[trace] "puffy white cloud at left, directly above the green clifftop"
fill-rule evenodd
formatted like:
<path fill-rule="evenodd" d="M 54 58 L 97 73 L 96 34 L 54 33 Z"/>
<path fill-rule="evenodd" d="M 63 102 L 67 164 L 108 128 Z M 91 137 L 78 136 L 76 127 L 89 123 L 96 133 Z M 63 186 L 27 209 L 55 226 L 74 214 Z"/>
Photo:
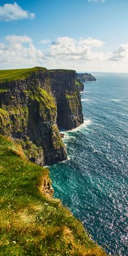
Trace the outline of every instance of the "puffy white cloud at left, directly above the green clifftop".
<path fill-rule="evenodd" d="M 18 68 L 42 65 L 42 51 L 36 49 L 28 36 L 8 35 L 5 43 L 0 43 L 0 66 Z"/>

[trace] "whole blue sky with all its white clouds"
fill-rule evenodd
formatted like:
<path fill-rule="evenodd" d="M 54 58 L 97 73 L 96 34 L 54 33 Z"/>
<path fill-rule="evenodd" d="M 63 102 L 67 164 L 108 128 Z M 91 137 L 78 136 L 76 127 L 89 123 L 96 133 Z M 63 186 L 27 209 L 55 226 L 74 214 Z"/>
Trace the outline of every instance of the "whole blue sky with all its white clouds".
<path fill-rule="evenodd" d="M 0 69 L 128 72 L 128 0 L 0 0 Z"/>

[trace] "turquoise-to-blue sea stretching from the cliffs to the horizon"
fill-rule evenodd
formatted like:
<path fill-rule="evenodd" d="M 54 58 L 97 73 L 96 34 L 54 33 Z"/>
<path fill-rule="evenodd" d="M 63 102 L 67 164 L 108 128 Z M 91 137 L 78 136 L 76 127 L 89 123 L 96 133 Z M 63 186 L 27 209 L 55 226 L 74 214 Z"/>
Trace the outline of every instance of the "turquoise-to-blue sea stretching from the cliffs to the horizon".
<path fill-rule="evenodd" d="M 50 167 L 55 190 L 99 245 L 127 252 L 128 74 L 95 74 L 81 93 L 85 123 L 65 132 L 69 160 Z"/>

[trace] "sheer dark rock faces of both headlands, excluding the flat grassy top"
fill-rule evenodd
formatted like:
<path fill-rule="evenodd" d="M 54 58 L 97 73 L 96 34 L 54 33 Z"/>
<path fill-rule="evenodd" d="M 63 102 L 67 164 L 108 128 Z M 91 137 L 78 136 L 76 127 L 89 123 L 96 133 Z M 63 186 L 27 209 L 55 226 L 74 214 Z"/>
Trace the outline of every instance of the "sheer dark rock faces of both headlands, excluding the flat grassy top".
<path fill-rule="evenodd" d="M 75 72 L 40 68 L 27 79 L 0 83 L 0 134 L 22 144 L 33 162 L 67 159 L 57 124 L 72 129 L 82 123 L 74 76 Z"/>

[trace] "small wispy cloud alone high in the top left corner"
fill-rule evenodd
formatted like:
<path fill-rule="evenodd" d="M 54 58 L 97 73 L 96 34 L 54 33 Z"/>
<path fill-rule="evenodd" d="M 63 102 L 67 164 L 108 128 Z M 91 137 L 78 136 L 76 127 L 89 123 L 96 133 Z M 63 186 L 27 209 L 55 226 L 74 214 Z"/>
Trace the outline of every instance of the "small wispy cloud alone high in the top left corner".
<path fill-rule="evenodd" d="M 16 2 L 0 6 L 0 21 L 17 21 L 35 18 L 35 14 L 23 10 Z"/>

